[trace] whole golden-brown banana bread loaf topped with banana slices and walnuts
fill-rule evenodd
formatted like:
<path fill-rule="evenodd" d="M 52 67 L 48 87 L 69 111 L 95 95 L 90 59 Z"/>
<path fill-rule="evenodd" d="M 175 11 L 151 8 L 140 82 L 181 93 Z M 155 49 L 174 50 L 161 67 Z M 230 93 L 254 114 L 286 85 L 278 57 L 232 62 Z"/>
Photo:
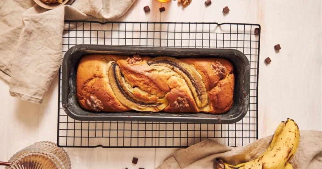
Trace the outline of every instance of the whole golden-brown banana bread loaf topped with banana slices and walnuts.
<path fill-rule="evenodd" d="M 219 114 L 232 107 L 232 64 L 220 58 L 92 54 L 76 75 L 77 98 L 92 111 Z"/>

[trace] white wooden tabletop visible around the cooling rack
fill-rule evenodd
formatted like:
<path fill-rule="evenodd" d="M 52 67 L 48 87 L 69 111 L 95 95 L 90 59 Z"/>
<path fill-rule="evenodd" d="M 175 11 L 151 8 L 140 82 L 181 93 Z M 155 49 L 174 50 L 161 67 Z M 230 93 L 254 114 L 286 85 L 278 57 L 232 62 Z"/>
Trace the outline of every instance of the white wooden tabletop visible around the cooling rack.
<path fill-rule="evenodd" d="M 151 12 L 145 14 L 143 7 Z M 166 11 L 160 13 L 158 8 Z M 222 8 L 228 6 L 229 14 Z M 317 0 L 194 0 L 182 9 L 176 1 L 161 5 L 137 0 L 115 21 L 232 22 L 261 25 L 258 92 L 259 138 L 273 134 L 280 121 L 293 118 L 301 130 L 321 130 L 321 1 Z M 276 53 L 274 45 L 281 45 Z M 269 65 L 264 59 L 270 57 Z M 38 141 L 57 139 L 58 76 L 43 104 L 9 96 L 9 84 L 0 80 L 0 161 Z M 73 168 L 152 169 L 177 148 L 66 148 Z M 139 163 L 131 164 L 132 157 Z M 1 168 L 1 167 L 0 167 Z"/>

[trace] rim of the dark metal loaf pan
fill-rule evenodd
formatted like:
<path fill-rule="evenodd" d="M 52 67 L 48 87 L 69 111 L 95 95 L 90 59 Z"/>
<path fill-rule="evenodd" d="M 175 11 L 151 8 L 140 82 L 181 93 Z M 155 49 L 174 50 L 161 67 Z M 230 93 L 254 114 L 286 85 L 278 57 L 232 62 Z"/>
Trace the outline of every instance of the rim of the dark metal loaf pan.
<path fill-rule="evenodd" d="M 70 59 L 74 57 L 76 52 L 94 52 L 99 53 L 97 51 L 136 51 L 132 52 L 131 54 L 142 54 L 142 53 L 150 53 L 149 51 L 154 51 L 157 53 L 158 51 L 162 51 L 162 54 L 166 54 L 168 52 L 178 52 L 178 53 L 209 53 L 209 52 L 218 52 L 218 53 L 226 53 L 226 54 L 233 54 L 239 57 L 239 59 L 244 63 L 245 72 L 243 74 L 243 93 L 245 95 L 244 101 L 245 104 L 241 108 L 241 112 L 233 117 L 233 118 L 222 118 L 223 114 L 207 114 L 213 117 L 185 117 L 185 114 L 189 115 L 197 115 L 197 114 L 204 114 L 204 113 L 185 113 L 185 114 L 173 114 L 173 113 L 164 113 L 164 114 L 171 114 L 171 116 L 163 117 L 163 116 L 150 116 L 148 112 L 138 112 L 137 114 L 145 114 L 141 116 L 135 115 L 124 115 L 124 116 L 113 116 L 113 112 L 109 113 L 102 113 L 103 115 L 80 115 L 74 112 L 73 108 L 71 108 L 72 103 L 70 103 L 70 99 L 68 95 L 70 94 L 70 86 L 69 86 L 69 63 Z M 148 52 L 146 52 L 148 51 Z M 200 52 L 201 51 L 201 52 Z M 92 54 L 94 54 L 92 53 Z M 91 53 L 88 53 L 91 54 Z M 86 55 L 86 54 L 84 54 Z M 200 55 L 200 54 L 196 54 Z M 66 112 L 68 116 L 76 120 L 90 120 L 90 121 L 157 121 L 157 122 L 188 122 L 188 123 L 215 123 L 215 124 L 231 124 L 240 121 L 248 111 L 249 106 L 249 95 L 250 95 L 250 65 L 247 57 L 241 52 L 236 49 L 205 49 L 205 48 L 163 48 L 163 47 L 136 47 L 136 46 L 113 46 L 113 45 L 86 45 L 80 44 L 71 47 L 66 53 L 62 61 L 62 108 Z M 79 106 L 78 102 L 76 103 Z M 84 110 L 84 109 L 83 109 Z M 90 111 L 84 110 L 85 112 L 90 113 Z M 128 112 L 124 112 L 128 113 Z M 156 114 L 156 113 L 152 113 Z M 225 113 L 224 113 L 225 114 Z M 148 116 L 147 116 L 148 115 Z M 182 116 L 182 117 L 180 117 Z"/>

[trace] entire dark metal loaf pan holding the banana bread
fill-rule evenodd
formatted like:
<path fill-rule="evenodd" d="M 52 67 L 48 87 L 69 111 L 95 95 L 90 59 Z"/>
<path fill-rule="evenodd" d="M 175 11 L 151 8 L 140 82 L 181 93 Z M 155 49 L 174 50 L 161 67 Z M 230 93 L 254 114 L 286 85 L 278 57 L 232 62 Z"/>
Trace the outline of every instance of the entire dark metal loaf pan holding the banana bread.
<path fill-rule="evenodd" d="M 166 113 L 166 112 L 93 112 L 81 108 L 76 98 L 76 71 L 81 58 L 88 54 L 118 54 L 141 56 L 218 57 L 234 66 L 235 89 L 232 108 L 224 114 Z M 159 48 L 106 45 L 76 45 L 62 61 L 62 106 L 76 120 L 93 121 L 162 121 L 229 124 L 241 120 L 247 113 L 250 93 L 250 65 L 246 56 L 234 49 Z"/>

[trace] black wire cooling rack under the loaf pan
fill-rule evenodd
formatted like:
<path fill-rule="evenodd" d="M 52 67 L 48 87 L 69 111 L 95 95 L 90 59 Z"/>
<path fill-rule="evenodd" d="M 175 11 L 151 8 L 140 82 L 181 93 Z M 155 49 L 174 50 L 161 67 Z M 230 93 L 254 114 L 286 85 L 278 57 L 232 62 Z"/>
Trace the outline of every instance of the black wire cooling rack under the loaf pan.
<path fill-rule="evenodd" d="M 229 146 L 258 139 L 260 25 L 245 23 L 66 21 L 62 54 L 76 44 L 232 48 L 251 65 L 250 106 L 235 124 L 78 121 L 62 109 L 59 70 L 57 144 L 60 147 L 187 147 L 207 138 Z M 255 33 L 256 31 L 259 33 Z"/>

